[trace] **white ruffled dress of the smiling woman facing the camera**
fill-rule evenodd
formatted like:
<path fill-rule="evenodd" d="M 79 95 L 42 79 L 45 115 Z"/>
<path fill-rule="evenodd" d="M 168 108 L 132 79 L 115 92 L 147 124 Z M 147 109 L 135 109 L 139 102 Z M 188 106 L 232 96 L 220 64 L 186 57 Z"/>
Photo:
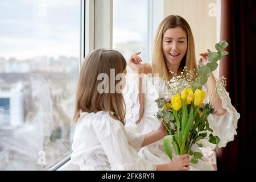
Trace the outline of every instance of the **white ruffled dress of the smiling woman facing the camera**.
<path fill-rule="evenodd" d="M 155 117 L 158 106 L 155 100 L 163 96 L 167 87 L 165 82 L 159 77 L 143 78 L 144 90 L 144 114 L 141 122 L 136 125 L 135 121 L 139 118 L 139 100 L 138 100 L 138 86 L 132 74 L 127 74 L 127 85 L 124 92 L 126 103 L 126 127 L 127 130 L 132 130 L 135 134 L 146 134 L 156 130 L 159 125 L 158 119 Z M 206 90 L 207 88 L 204 88 Z M 237 121 L 240 114 L 232 106 L 229 93 L 226 90 L 218 90 L 218 94 L 222 100 L 222 107 L 226 109 L 226 113 L 221 116 L 209 115 L 208 121 L 210 128 L 213 129 L 213 135 L 217 135 L 221 141 L 218 147 L 225 147 L 226 143 L 234 139 L 237 134 Z M 205 101 L 208 102 L 209 98 L 206 97 Z M 199 163 L 190 165 L 191 170 L 214 170 L 212 164 L 216 164 L 216 152 L 214 151 L 215 144 L 209 143 L 207 140 L 201 140 L 202 148 L 196 144 L 192 146 L 193 151 L 203 152 L 204 160 L 199 160 Z M 172 150 L 174 151 L 174 150 Z M 170 162 L 163 149 L 163 141 L 159 140 L 149 146 L 143 147 L 139 151 L 139 155 L 154 164 L 163 164 Z"/>

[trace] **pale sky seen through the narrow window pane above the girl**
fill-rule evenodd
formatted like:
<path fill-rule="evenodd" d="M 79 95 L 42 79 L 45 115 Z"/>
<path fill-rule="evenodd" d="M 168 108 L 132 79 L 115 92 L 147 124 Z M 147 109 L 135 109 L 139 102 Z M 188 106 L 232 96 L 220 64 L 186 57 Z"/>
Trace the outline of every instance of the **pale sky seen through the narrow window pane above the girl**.
<path fill-rule="evenodd" d="M 144 40 L 148 30 L 148 0 L 114 0 L 113 4 L 113 44 Z"/>

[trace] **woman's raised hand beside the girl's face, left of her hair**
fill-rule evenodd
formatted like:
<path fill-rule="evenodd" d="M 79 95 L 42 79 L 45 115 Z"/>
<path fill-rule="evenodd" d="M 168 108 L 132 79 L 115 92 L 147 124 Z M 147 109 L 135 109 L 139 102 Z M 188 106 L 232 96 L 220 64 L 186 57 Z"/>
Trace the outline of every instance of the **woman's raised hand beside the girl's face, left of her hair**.
<path fill-rule="evenodd" d="M 140 54 L 141 52 L 135 52 L 133 55 L 131 55 L 130 59 L 127 61 L 127 64 L 129 65 L 129 67 L 131 69 L 133 69 L 133 71 L 135 73 L 143 73 L 144 70 L 143 70 L 143 64 L 141 64 L 141 57 L 139 57 L 138 55 Z"/>

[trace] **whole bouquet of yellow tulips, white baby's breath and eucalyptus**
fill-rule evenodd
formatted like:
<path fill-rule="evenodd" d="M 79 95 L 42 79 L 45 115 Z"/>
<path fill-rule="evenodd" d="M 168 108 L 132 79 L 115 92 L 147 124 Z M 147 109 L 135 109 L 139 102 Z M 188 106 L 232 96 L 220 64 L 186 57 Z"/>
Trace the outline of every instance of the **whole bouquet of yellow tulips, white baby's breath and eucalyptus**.
<path fill-rule="evenodd" d="M 170 93 L 156 100 L 159 108 L 156 117 L 162 119 L 168 132 L 163 139 L 163 146 L 170 159 L 172 159 L 171 146 L 174 146 L 176 155 L 189 154 L 192 156 L 191 162 L 197 163 L 203 154 L 193 152 L 192 144 L 203 147 L 197 142 L 207 137 L 208 132 L 210 132 L 208 135 L 210 143 L 218 145 L 220 142 L 220 138 L 213 136 L 213 130 L 209 127 L 207 118 L 209 114 L 214 113 L 214 109 L 210 103 L 203 103 L 206 93 L 201 88 L 206 84 L 210 72 L 217 68 L 216 62 L 228 54 L 222 50 L 227 46 L 228 43 L 225 41 L 217 43 L 215 47 L 218 52 L 208 50 L 210 63 L 207 65 L 199 63 L 199 76 L 191 77 L 187 74 L 186 76 L 191 78 L 184 79 L 183 76 L 178 79 L 173 78 L 170 82 L 175 84 L 170 86 Z"/>

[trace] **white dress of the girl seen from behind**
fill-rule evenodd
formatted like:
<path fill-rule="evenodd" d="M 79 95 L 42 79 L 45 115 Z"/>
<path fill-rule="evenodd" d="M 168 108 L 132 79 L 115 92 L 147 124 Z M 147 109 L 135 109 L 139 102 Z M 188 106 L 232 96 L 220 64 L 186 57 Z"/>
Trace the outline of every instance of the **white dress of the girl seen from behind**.
<path fill-rule="evenodd" d="M 109 113 L 80 113 L 71 162 L 81 170 L 155 170 L 138 155 L 145 135 L 134 135 Z"/>

